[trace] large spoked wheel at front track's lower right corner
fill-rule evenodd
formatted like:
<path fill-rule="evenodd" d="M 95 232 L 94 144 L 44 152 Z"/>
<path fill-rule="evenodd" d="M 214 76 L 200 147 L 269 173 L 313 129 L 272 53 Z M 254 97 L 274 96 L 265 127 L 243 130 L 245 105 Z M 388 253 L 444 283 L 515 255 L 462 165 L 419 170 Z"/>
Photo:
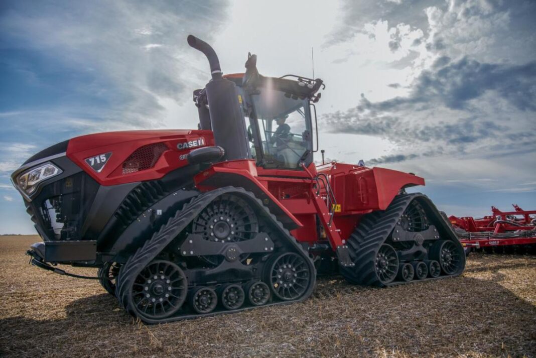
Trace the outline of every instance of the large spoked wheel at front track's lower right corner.
<path fill-rule="evenodd" d="M 275 257 L 268 267 L 272 292 L 283 301 L 299 299 L 309 287 L 312 273 L 303 257 L 294 252 Z"/>

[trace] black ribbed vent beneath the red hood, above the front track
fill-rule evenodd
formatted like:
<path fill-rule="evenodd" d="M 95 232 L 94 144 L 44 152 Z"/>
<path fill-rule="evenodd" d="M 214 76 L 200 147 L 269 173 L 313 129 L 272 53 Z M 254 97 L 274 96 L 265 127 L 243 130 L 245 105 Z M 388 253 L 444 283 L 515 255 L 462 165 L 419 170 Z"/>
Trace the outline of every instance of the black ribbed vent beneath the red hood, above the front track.
<path fill-rule="evenodd" d="M 166 185 L 159 180 L 143 182 L 133 189 L 117 209 L 115 217 L 123 225 L 129 225 L 148 207 L 168 194 Z"/>

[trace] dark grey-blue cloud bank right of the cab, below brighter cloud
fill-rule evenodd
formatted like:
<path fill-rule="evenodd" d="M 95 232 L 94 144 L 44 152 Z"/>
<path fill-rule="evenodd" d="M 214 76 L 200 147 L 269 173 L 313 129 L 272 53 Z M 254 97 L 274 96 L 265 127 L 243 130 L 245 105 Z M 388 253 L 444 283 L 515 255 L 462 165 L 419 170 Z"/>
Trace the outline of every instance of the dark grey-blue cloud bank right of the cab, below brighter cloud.
<path fill-rule="evenodd" d="M 398 145 L 398 153 L 367 161 L 370 165 L 442 154 L 489 156 L 536 150 L 535 103 L 536 63 L 491 65 L 463 58 L 421 73 L 406 97 L 371 102 L 362 95 L 358 106 L 326 114 L 321 122 L 332 132 Z"/>

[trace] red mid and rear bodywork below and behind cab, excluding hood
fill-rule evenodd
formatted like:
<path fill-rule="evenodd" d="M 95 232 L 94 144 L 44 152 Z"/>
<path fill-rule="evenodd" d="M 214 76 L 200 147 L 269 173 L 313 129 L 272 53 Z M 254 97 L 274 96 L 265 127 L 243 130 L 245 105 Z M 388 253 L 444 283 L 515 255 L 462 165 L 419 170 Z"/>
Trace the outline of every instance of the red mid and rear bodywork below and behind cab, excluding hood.
<path fill-rule="evenodd" d="M 330 211 L 325 204 L 326 188 L 322 187 L 318 195 L 313 188 L 313 177 L 318 173 L 327 175 L 341 205 L 331 223 L 327 220 Z M 332 247 L 344 244 L 363 214 L 385 210 L 402 188 L 425 184 L 421 177 L 384 168 L 330 163 L 318 168 L 311 164 L 307 170 L 264 169 L 256 167 L 254 160 L 217 163 L 194 180 L 202 191 L 239 185 L 258 197 L 264 194 L 265 204 L 274 214 L 284 213 L 299 226 L 292 230 L 298 241 L 312 244 L 325 234 Z M 317 217 L 323 226 L 321 237 Z"/>

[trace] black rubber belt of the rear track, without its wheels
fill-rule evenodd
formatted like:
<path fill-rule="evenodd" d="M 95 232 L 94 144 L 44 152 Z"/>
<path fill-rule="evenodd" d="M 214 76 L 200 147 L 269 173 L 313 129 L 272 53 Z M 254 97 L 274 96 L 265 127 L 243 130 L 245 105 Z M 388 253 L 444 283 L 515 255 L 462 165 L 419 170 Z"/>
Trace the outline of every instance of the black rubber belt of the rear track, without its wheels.
<path fill-rule="evenodd" d="M 340 266 L 340 272 L 348 282 L 362 286 L 385 287 L 455 277 L 463 272 L 463 270 L 460 270 L 459 273 L 453 275 L 442 275 L 437 278 L 413 280 L 410 282 L 395 281 L 391 282 L 390 284 L 383 284 L 379 281 L 374 267 L 376 253 L 381 245 L 385 242 L 386 238 L 388 238 L 389 234 L 391 234 L 394 226 L 398 222 L 398 219 L 404 213 L 404 210 L 406 210 L 406 207 L 411 203 L 412 200 L 416 198 L 422 198 L 423 202 L 426 202 L 422 204 L 428 205 L 432 211 L 437 213 L 437 219 L 440 220 L 439 222 L 442 224 L 443 228 L 451 234 L 450 237 L 445 237 L 445 239 L 455 241 L 459 244 L 456 234 L 452 231 L 450 226 L 446 226 L 446 223 L 443 222 L 444 219 L 437 211 L 437 208 L 425 195 L 422 195 L 421 193 L 398 195 L 393 199 L 385 211 L 376 211 L 364 215 L 359 223 L 358 228 L 348 238 L 347 245 L 350 252 L 350 257 L 355 263 L 355 266 Z"/>

